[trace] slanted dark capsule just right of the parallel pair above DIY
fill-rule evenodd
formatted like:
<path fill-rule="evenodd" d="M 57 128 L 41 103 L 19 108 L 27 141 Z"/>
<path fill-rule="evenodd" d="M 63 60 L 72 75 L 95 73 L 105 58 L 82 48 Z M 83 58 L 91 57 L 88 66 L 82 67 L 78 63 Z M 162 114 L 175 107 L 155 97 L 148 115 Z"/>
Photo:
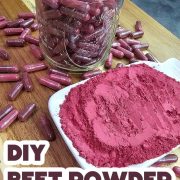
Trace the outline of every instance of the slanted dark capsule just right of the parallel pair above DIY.
<path fill-rule="evenodd" d="M 18 118 L 20 121 L 24 122 L 28 120 L 28 118 L 30 118 L 30 116 L 32 116 L 32 114 L 35 111 L 36 111 L 36 104 L 30 103 L 19 112 Z"/>

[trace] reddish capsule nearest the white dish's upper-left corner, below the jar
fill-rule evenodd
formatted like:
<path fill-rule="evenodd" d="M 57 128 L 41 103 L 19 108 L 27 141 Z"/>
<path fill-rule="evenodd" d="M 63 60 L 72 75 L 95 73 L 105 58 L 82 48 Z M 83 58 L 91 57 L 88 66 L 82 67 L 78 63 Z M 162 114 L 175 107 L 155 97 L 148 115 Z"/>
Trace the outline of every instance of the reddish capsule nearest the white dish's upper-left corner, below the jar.
<path fill-rule="evenodd" d="M 58 90 L 62 89 L 61 84 L 59 84 L 58 82 L 53 81 L 47 77 L 41 77 L 38 80 L 41 85 L 46 86 L 54 91 L 58 91 Z"/>

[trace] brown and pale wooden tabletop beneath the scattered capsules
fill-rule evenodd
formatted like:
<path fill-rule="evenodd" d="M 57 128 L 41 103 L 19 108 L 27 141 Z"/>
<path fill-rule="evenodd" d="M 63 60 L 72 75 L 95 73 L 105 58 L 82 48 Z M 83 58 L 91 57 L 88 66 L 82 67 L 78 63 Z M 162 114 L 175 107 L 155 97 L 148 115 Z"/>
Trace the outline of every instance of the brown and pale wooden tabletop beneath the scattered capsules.
<path fill-rule="evenodd" d="M 14 19 L 18 12 L 28 11 L 28 8 L 20 0 L 1 0 L 0 1 L 0 15 L 5 15 L 10 19 Z M 163 62 L 168 58 L 175 57 L 180 59 L 180 41 L 177 37 L 171 34 L 167 29 L 161 26 L 158 22 L 148 16 L 144 11 L 127 0 L 124 4 L 120 22 L 129 29 L 133 29 L 135 21 L 139 19 L 143 22 L 145 30 L 144 42 L 150 43 L 151 51 L 159 61 Z M 6 38 L 3 32 L 0 31 L 0 47 L 4 46 Z M 23 66 L 28 63 L 35 63 L 37 60 L 29 53 L 29 47 L 24 48 L 8 48 L 11 54 L 9 62 L 0 61 L 0 65 L 17 64 Z M 116 63 L 116 61 L 114 61 Z M 115 64 L 114 64 L 115 65 Z M 48 98 L 54 93 L 53 91 L 40 86 L 37 82 L 37 77 L 45 75 L 46 72 L 38 72 L 31 74 L 34 84 L 34 91 L 32 93 L 23 92 L 12 104 L 17 108 L 23 108 L 27 103 L 34 102 L 38 104 L 38 112 L 27 122 L 16 122 L 10 126 L 4 133 L 0 133 L 0 140 L 41 140 L 42 133 L 38 128 L 39 117 L 41 112 L 48 114 Z M 79 77 L 73 76 L 74 82 L 79 81 Z M 7 101 L 7 91 L 12 84 L 0 84 L 0 108 L 9 104 Z M 54 127 L 55 128 L 55 127 Z M 46 155 L 45 167 L 70 167 L 78 166 L 61 136 L 59 136 L 56 128 L 57 140 L 51 143 L 50 149 Z M 2 142 L 0 143 L 2 144 Z M 0 144 L 0 145 L 1 145 Z M 1 145 L 2 147 L 2 145 Z M 2 148 L 0 148 L 2 153 Z M 180 151 L 180 150 L 179 150 Z M 178 153 L 178 152 L 176 152 Z M 179 152 L 180 156 L 180 152 Z M 180 165 L 180 162 L 178 163 Z M 2 165 L 2 164 L 1 164 Z M 0 166 L 1 166 L 0 165 Z"/>

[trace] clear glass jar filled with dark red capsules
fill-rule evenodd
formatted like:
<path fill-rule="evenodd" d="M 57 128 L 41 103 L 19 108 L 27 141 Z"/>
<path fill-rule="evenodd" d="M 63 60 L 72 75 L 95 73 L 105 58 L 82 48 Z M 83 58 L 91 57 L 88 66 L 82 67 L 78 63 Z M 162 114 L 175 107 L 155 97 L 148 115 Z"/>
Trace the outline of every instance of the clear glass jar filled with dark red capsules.
<path fill-rule="evenodd" d="M 50 64 L 88 71 L 108 57 L 123 0 L 36 0 L 40 47 Z"/>

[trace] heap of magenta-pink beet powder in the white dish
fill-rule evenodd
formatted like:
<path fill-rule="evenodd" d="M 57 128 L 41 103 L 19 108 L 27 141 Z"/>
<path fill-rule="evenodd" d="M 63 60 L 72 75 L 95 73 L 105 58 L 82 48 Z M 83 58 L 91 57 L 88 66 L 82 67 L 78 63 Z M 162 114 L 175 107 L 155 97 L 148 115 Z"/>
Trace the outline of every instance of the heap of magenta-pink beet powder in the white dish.
<path fill-rule="evenodd" d="M 142 163 L 180 144 L 180 83 L 147 65 L 111 70 L 73 88 L 60 117 L 87 162 Z"/>

